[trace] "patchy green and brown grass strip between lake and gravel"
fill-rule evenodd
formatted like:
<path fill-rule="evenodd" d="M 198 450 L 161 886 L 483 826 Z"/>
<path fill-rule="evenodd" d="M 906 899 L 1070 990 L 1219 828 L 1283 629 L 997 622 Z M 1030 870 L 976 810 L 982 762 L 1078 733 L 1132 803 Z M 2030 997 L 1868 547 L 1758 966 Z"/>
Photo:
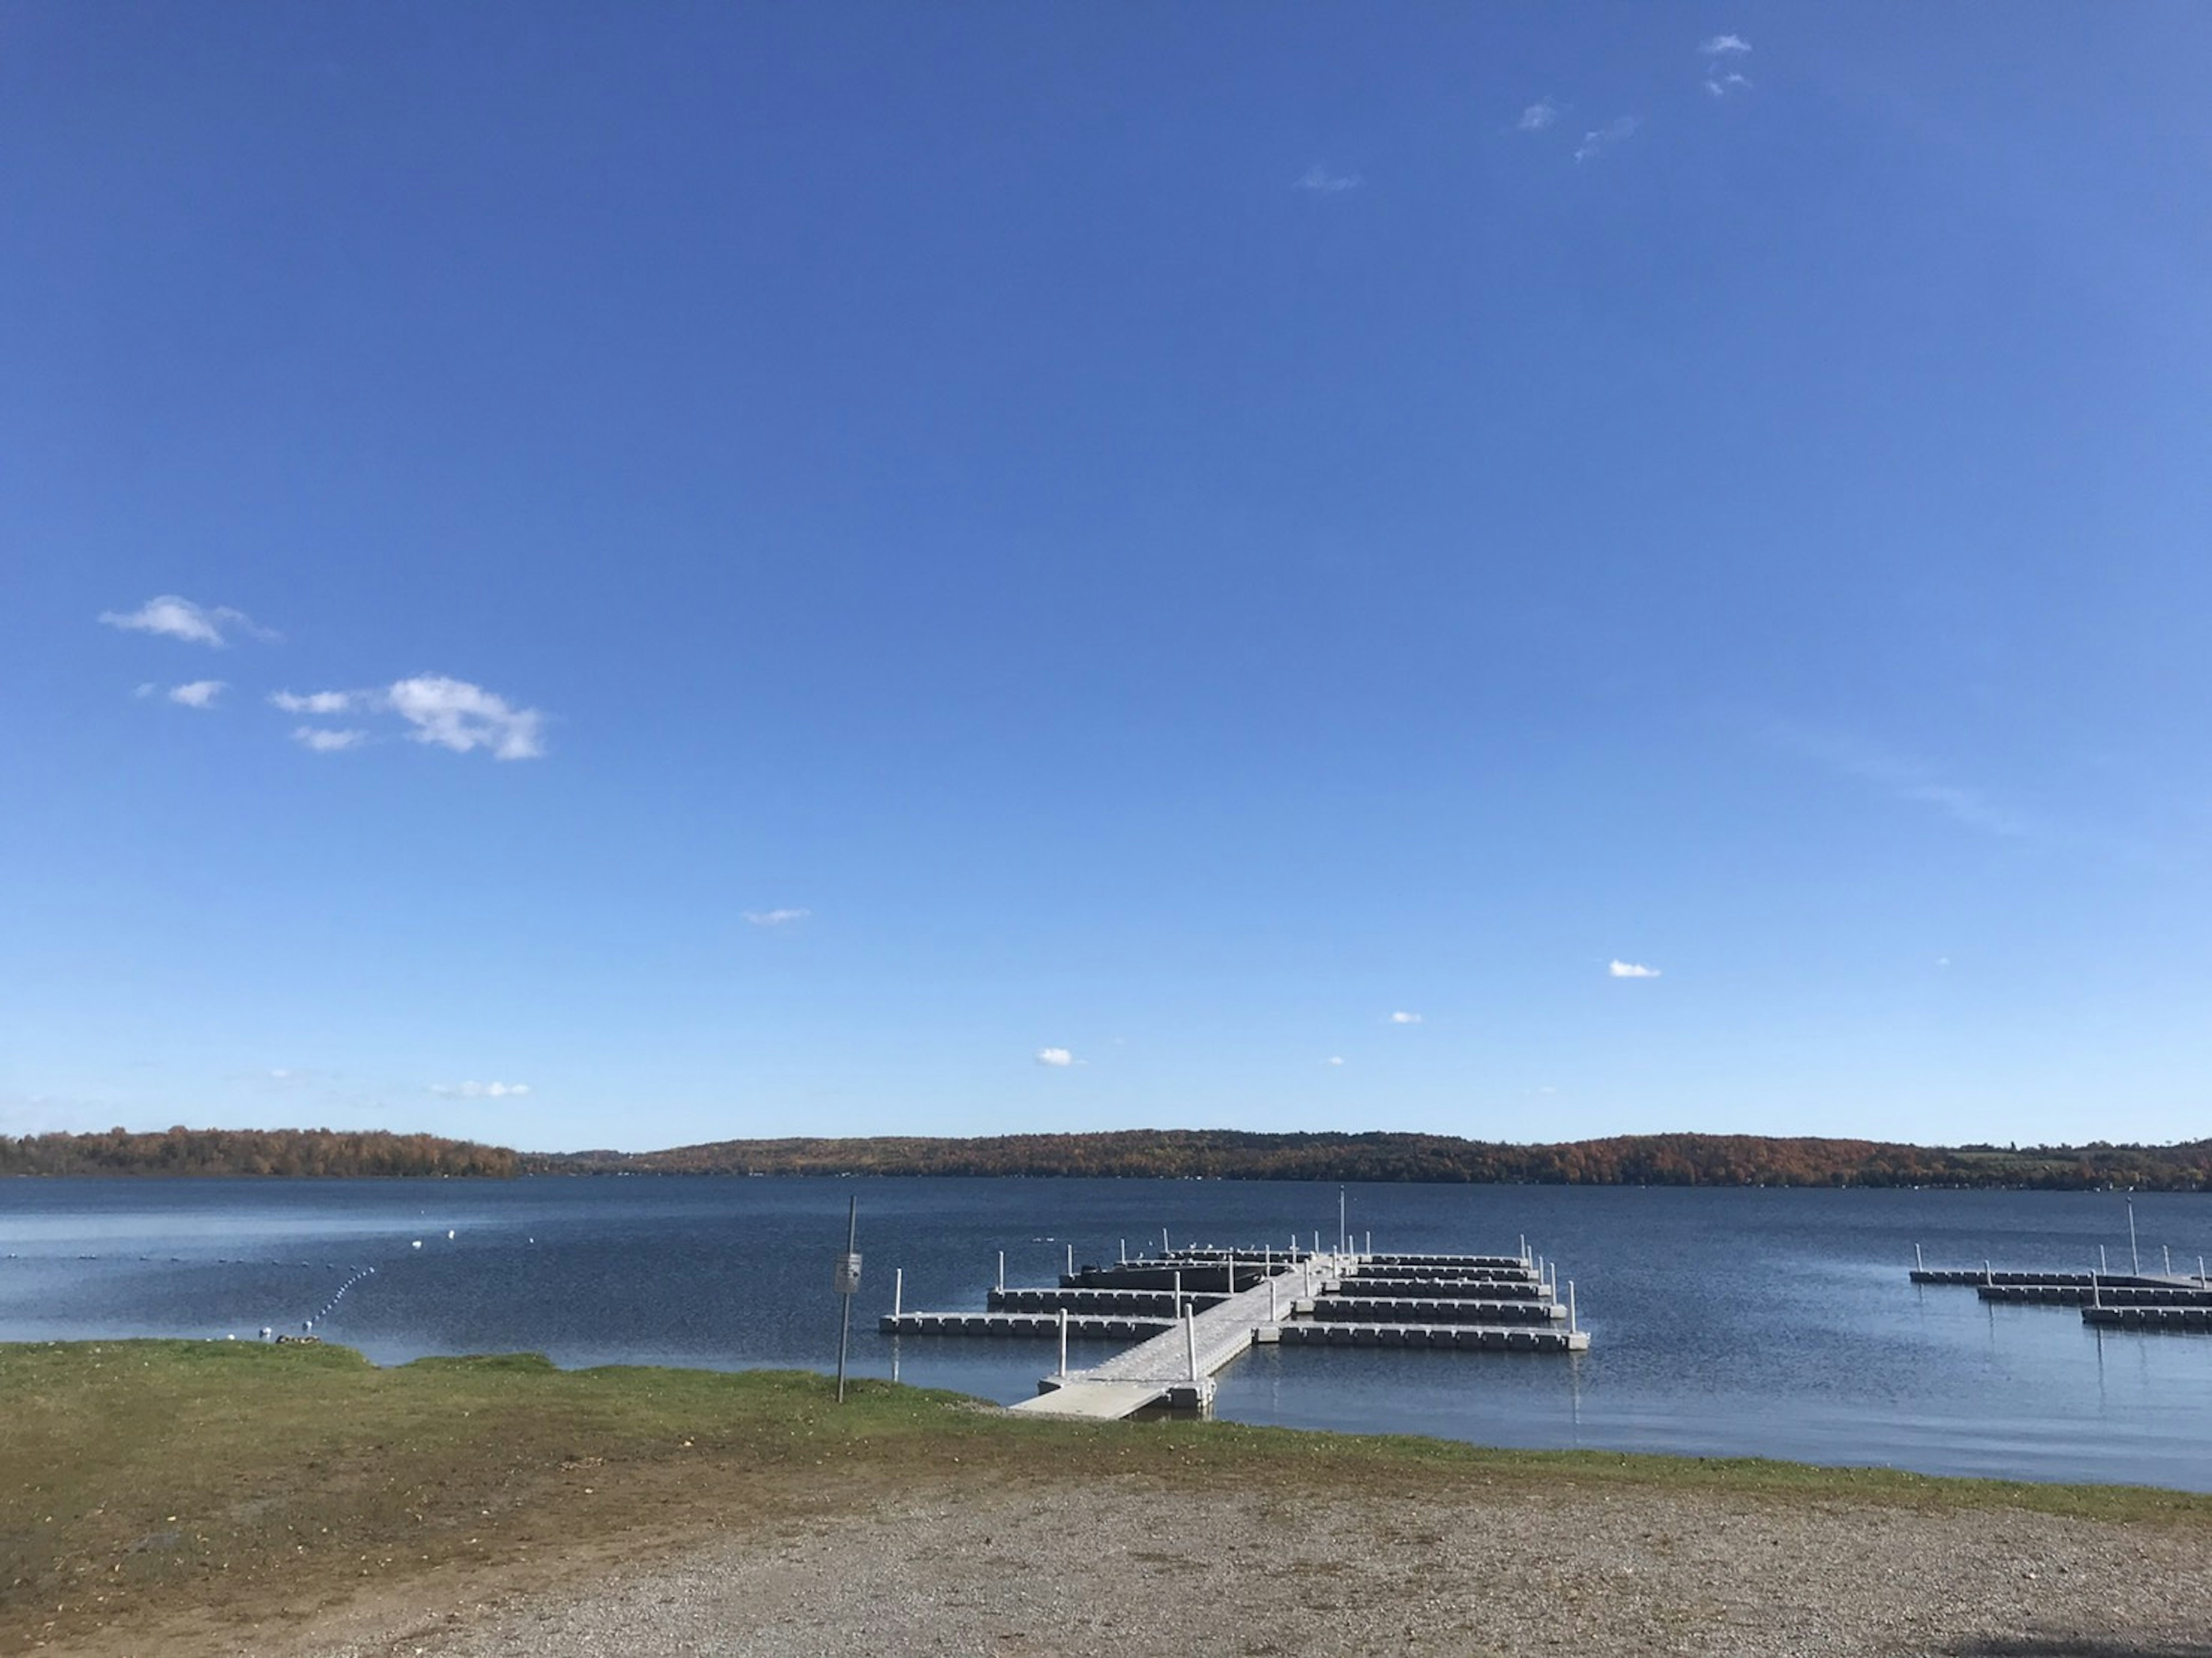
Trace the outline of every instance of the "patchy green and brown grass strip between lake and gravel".
<path fill-rule="evenodd" d="M 380 1371 L 341 1346 L 0 1344 L 0 1651 L 184 1616 L 307 1618 L 363 1589 L 794 1523 L 898 1490 L 1137 1477 L 1329 1494 L 1626 1483 L 1743 1503 L 2028 1508 L 2201 1528 L 2212 1499 L 1776 1461 L 1009 1417 L 792 1371 Z M 221 1607 L 212 1614 L 212 1607 Z"/>

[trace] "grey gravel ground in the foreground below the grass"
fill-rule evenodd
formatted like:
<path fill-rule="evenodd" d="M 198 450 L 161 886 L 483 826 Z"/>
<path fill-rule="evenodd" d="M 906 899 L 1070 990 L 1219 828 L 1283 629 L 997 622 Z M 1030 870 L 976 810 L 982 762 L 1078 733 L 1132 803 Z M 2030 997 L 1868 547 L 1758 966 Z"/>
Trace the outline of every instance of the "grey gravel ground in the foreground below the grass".
<path fill-rule="evenodd" d="M 1966 1654 L 2212 1658 L 2190 1530 L 1683 1492 L 942 1490 L 750 1525 L 314 1658 Z"/>

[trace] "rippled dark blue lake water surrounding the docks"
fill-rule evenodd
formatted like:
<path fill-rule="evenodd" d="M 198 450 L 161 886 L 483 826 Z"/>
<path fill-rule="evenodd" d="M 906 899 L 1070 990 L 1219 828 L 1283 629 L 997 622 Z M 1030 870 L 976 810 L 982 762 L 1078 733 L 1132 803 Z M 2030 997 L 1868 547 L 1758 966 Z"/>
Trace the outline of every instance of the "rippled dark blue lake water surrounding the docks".
<path fill-rule="evenodd" d="M 226 1335 L 314 1318 L 378 1364 L 540 1351 L 557 1364 L 836 1364 L 834 1251 L 860 1200 L 854 1371 L 1024 1399 L 1042 1342 L 889 1340 L 909 1309 L 1053 1282 L 1066 1245 L 1336 1236 L 1336 1187 L 1214 1180 L 0 1180 L 0 1340 Z M 1259 1349 L 1239 1421 L 1887 1463 L 2212 1490 L 2212 1335 L 2099 1335 L 1984 1307 L 1929 1265 L 2124 1267 L 2115 1194 L 1349 1187 L 1376 1249 L 1511 1251 L 1573 1278 L 1573 1357 Z M 2212 1196 L 2135 1198 L 2143 1265 L 2212 1253 Z M 453 1236 L 447 1238 L 447 1231 Z M 420 1249 L 414 1242 L 420 1240 Z M 1110 1349 L 1093 1349 L 1104 1355 Z"/>

